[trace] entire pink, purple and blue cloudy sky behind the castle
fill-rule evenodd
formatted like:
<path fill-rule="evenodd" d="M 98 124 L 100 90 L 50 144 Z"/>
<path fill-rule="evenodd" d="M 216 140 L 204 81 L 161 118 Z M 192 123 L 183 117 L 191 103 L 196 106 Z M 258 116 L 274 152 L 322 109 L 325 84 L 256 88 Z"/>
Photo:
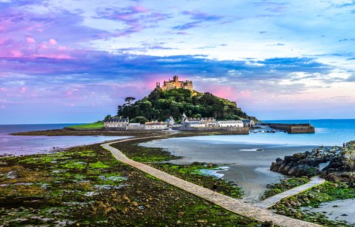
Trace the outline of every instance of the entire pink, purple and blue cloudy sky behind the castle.
<path fill-rule="evenodd" d="M 355 1 L 0 0 L 0 124 L 94 122 L 179 75 L 261 120 L 354 118 Z"/>

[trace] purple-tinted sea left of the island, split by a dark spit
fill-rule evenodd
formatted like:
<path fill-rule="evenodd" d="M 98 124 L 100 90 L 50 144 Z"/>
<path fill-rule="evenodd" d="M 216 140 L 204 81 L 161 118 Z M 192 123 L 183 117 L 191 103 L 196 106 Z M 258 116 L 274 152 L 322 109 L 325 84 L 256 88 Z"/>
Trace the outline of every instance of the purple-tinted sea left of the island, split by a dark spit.
<path fill-rule="evenodd" d="M 0 125 L 0 156 L 42 154 L 53 149 L 101 143 L 129 136 L 11 136 L 21 131 L 62 129 L 78 124 Z"/>

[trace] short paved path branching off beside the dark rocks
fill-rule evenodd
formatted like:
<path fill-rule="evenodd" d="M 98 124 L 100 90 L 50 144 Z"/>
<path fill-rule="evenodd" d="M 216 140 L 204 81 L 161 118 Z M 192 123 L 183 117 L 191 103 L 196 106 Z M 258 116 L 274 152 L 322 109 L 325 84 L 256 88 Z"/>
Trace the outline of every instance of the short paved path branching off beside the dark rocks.
<path fill-rule="evenodd" d="M 292 188 L 290 190 L 287 190 L 285 192 L 281 192 L 279 194 L 275 194 L 274 196 L 265 199 L 263 201 L 259 201 L 258 203 L 254 203 L 255 206 L 258 206 L 259 208 L 270 208 L 271 206 L 274 206 L 276 203 L 278 203 L 280 200 L 288 197 L 292 197 L 296 194 L 300 194 L 301 192 L 304 192 L 305 190 L 308 190 L 310 188 L 313 188 L 317 185 L 320 185 L 324 183 L 325 180 L 320 178 L 320 176 L 313 176 L 311 178 L 311 181 L 309 183 L 305 183 L 304 185 L 300 185 L 296 188 Z"/>

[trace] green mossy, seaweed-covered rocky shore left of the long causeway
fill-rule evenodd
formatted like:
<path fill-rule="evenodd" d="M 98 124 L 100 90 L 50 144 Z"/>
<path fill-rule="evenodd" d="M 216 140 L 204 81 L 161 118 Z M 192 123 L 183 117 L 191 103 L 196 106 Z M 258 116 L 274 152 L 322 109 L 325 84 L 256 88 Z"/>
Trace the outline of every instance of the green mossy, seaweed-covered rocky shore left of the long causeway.
<path fill-rule="evenodd" d="M 123 165 L 99 145 L 2 161 L 2 176 L 17 174 L 1 178 L 3 226 L 261 226 Z"/>

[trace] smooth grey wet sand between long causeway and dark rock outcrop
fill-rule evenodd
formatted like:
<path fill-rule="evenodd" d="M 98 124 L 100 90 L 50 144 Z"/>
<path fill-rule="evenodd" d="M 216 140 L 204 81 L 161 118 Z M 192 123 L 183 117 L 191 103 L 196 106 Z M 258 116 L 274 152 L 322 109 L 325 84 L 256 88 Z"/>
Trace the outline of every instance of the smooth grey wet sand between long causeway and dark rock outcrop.
<path fill-rule="evenodd" d="M 272 161 L 296 152 L 305 152 L 315 146 L 290 146 L 270 144 L 230 143 L 225 141 L 189 140 L 168 138 L 144 143 L 147 147 L 164 147 L 169 152 L 184 158 L 171 161 L 177 164 L 193 162 L 227 165 L 227 170 L 218 173 L 238 183 L 244 190 L 245 201 L 259 201 L 268 183 L 276 183 L 284 175 L 270 171 Z M 257 149 L 261 149 L 257 150 Z"/>

